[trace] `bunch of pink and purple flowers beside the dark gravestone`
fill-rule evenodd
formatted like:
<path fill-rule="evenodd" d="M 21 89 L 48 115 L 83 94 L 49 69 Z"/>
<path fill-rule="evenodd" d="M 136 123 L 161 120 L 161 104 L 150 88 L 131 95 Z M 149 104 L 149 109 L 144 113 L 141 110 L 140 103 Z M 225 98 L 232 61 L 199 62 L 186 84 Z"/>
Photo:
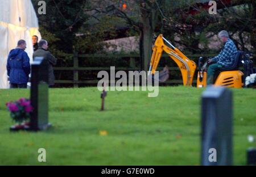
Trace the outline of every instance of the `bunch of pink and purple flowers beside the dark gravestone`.
<path fill-rule="evenodd" d="M 19 125 L 30 118 L 30 112 L 33 110 L 30 100 L 26 98 L 6 103 L 6 107 L 10 111 L 11 118 Z"/>

